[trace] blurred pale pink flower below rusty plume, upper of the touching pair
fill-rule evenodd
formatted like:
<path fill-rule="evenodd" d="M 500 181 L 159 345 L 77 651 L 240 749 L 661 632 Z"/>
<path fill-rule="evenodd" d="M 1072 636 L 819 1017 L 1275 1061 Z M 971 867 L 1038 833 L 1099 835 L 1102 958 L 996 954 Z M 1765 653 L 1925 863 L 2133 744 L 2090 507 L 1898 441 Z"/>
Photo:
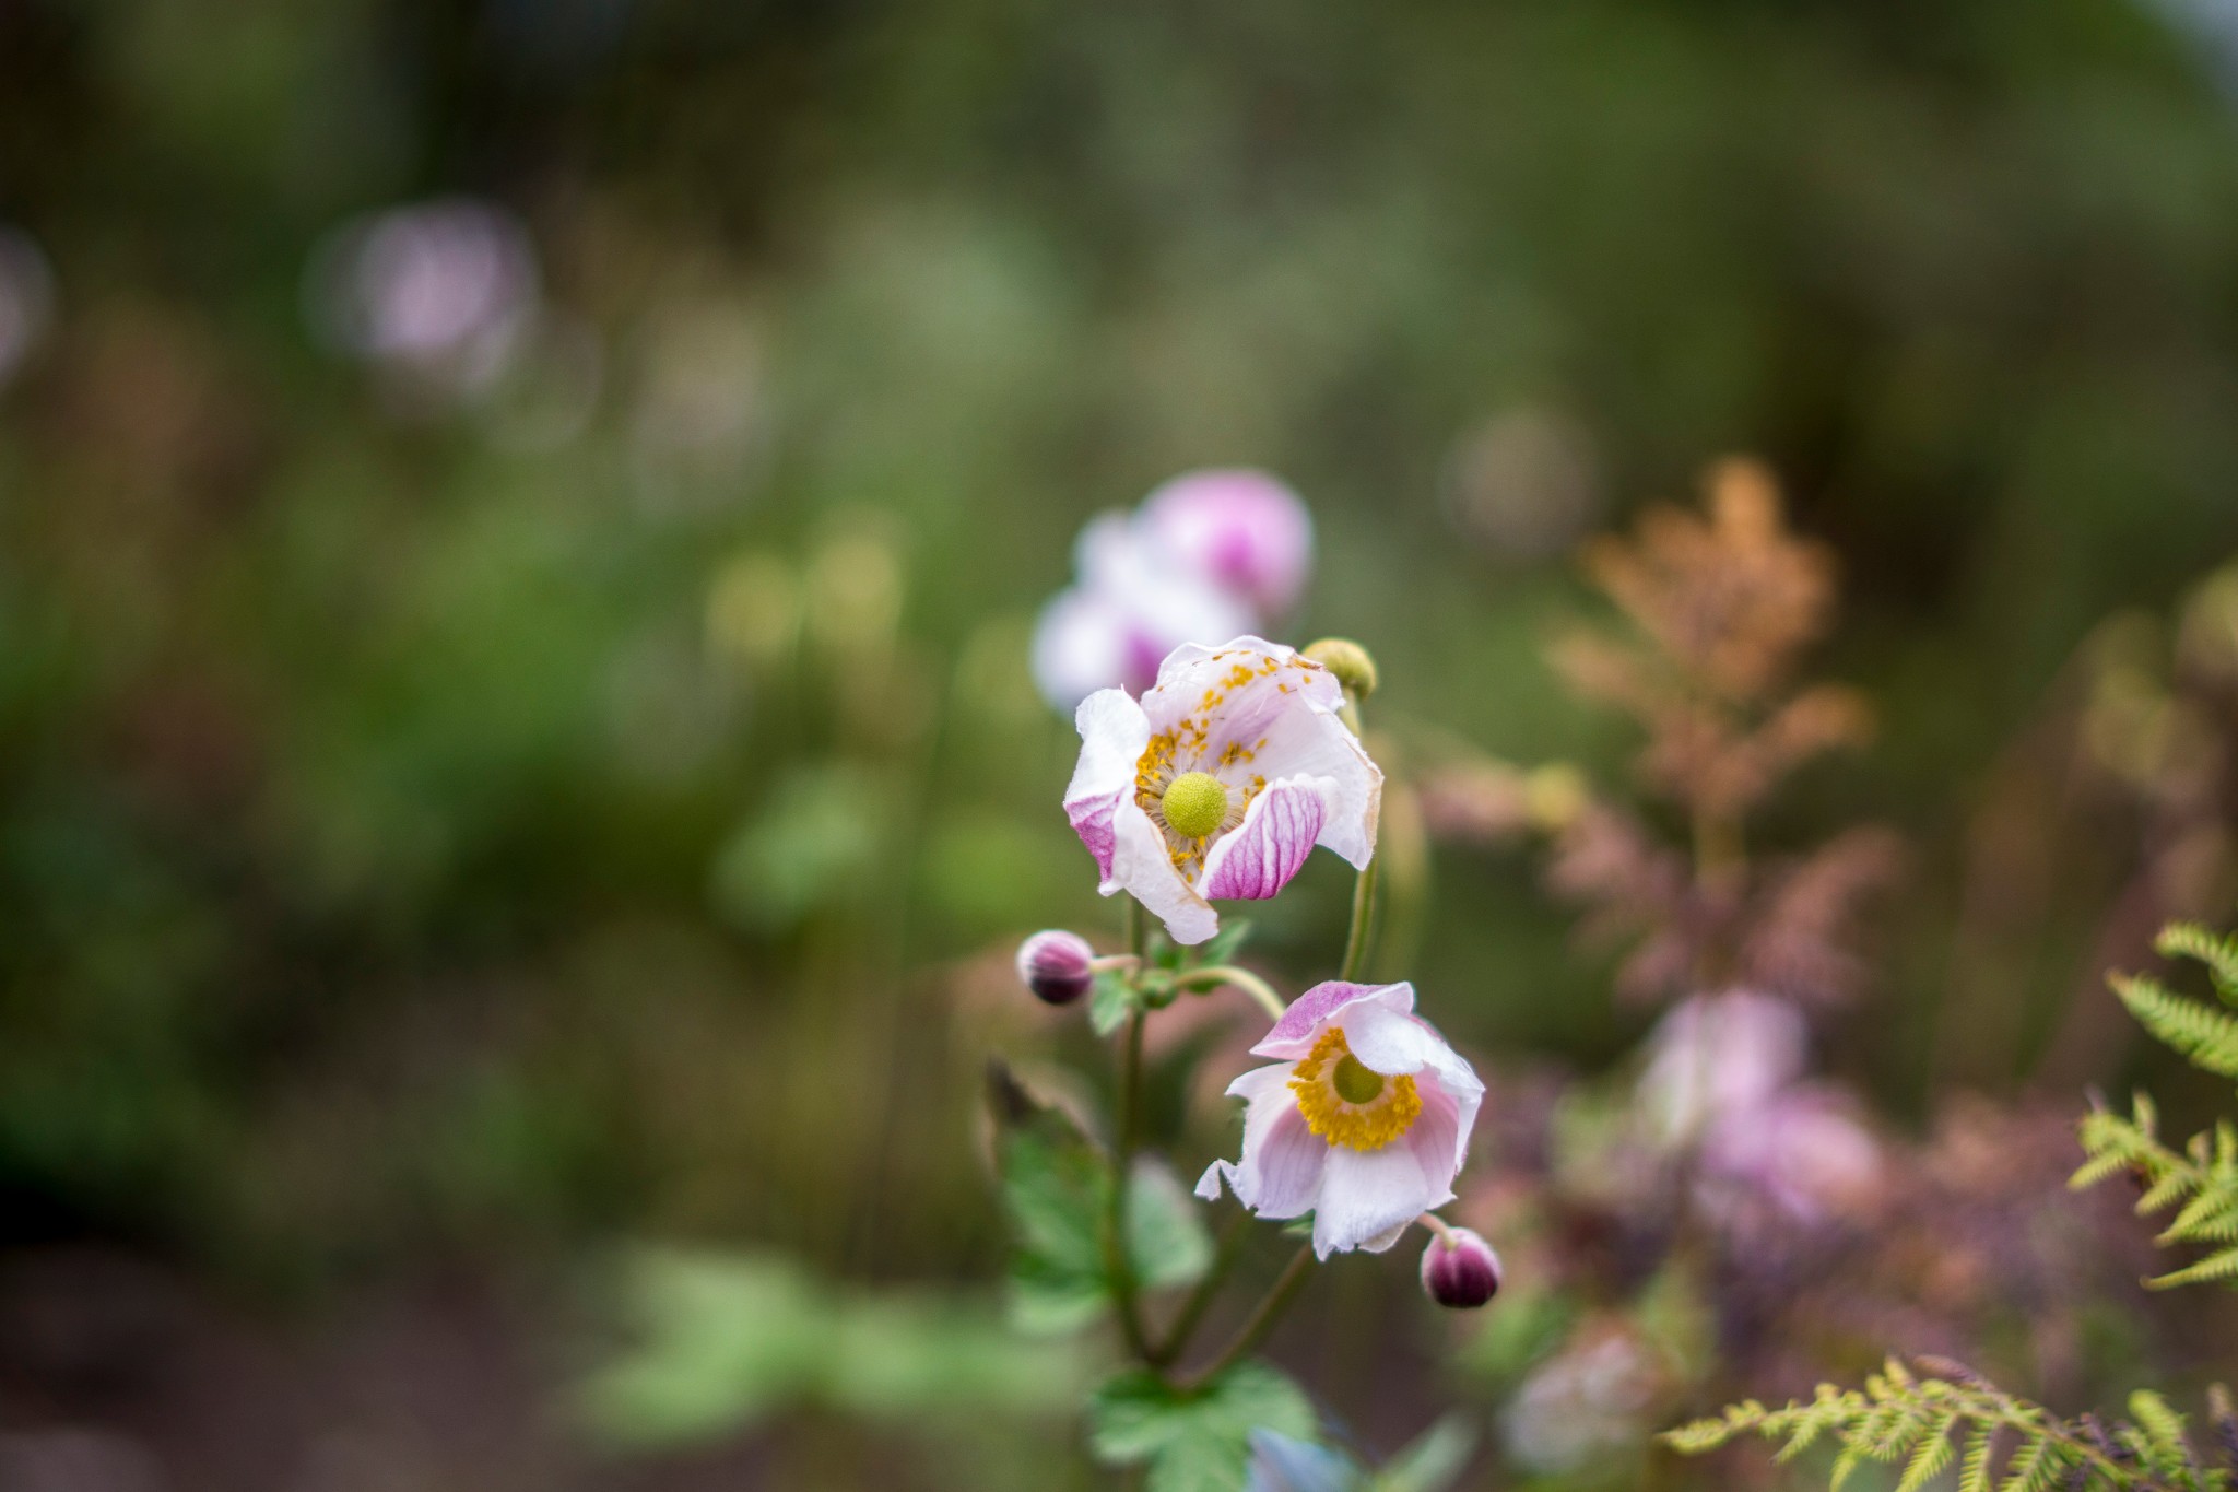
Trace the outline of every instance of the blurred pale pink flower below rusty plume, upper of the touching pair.
<path fill-rule="evenodd" d="M 1672 1007 L 1647 1047 L 1640 1116 L 1658 1143 L 1685 1145 L 1799 1078 L 1808 1031 L 1793 1004 L 1734 989 Z"/>

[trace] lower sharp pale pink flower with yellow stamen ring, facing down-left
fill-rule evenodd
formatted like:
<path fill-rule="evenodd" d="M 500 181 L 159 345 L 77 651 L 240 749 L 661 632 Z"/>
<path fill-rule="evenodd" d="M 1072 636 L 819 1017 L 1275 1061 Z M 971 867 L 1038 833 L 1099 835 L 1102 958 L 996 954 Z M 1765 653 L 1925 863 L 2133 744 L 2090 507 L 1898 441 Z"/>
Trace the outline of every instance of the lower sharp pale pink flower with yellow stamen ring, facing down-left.
<path fill-rule="evenodd" d="M 1484 1083 L 1414 1016 L 1412 984 L 1316 984 L 1251 1054 L 1278 1060 L 1229 1085 L 1242 1156 L 1213 1161 L 1197 1197 L 1224 1179 L 1260 1217 L 1311 1212 L 1323 1259 L 1381 1253 L 1452 1201 Z"/>

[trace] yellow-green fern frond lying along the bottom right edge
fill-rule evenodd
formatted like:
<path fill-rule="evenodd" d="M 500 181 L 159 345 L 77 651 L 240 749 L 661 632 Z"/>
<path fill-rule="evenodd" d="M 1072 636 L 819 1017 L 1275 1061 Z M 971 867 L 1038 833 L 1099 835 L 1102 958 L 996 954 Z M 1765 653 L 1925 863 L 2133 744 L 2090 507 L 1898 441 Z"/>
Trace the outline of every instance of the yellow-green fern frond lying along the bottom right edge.
<path fill-rule="evenodd" d="M 2234 1250 L 2238 1253 L 2238 1250 Z M 2234 1266 L 2238 1268 L 2238 1266 Z M 2140 1391 L 2128 1400 L 2126 1420 L 2095 1416 L 2063 1420 L 2041 1405 L 2005 1394 L 1956 1362 L 1920 1358 L 1918 1373 L 1889 1362 L 1864 1382 L 1864 1391 L 1819 1385 L 1811 1403 L 1766 1409 L 1748 1400 L 1717 1418 L 1683 1425 L 1663 1436 L 1683 1454 L 1712 1452 L 1743 1434 L 1786 1441 L 1779 1461 L 1799 1456 L 1824 1436 L 1842 1445 L 1828 1488 L 1866 1461 L 1905 1461 L 1898 1492 L 1922 1492 L 1958 1461 L 1960 1492 L 2050 1492 L 2061 1479 L 2110 1492 L 2231 1492 L 2238 1488 L 2238 1418 L 2229 1396 L 2209 1398 L 2209 1418 L 2222 1441 L 2225 1467 L 2202 1470 L 2184 1416 L 2164 1398 Z M 2012 1436 L 2012 1452 L 1999 1481 L 1999 1438 Z M 1958 1443 L 1965 1441 L 1965 1456 Z"/>

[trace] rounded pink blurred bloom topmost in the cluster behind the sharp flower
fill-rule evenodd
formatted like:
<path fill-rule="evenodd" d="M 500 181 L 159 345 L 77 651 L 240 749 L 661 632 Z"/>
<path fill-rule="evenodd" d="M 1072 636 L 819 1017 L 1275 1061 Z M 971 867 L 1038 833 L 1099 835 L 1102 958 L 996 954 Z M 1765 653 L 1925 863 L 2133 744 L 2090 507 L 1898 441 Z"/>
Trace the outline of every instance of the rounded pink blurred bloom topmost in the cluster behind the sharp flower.
<path fill-rule="evenodd" d="M 1184 472 L 1141 506 L 1148 539 L 1273 622 L 1314 570 L 1314 514 L 1298 494 L 1249 468 Z"/>

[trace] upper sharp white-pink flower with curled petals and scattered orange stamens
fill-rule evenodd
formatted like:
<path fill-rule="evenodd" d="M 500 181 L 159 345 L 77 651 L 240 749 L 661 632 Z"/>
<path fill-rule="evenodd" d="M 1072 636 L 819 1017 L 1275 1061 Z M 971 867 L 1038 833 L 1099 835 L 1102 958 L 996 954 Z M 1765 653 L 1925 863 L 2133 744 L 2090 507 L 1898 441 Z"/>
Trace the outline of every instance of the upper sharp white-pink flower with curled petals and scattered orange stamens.
<path fill-rule="evenodd" d="M 1316 843 L 1356 870 L 1376 850 L 1383 772 L 1338 718 L 1345 691 L 1278 642 L 1177 646 L 1137 702 L 1088 696 L 1065 814 L 1103 877 L 1179 944 L 1220 931 L 1213 899 L 1267 899 Z"/>

